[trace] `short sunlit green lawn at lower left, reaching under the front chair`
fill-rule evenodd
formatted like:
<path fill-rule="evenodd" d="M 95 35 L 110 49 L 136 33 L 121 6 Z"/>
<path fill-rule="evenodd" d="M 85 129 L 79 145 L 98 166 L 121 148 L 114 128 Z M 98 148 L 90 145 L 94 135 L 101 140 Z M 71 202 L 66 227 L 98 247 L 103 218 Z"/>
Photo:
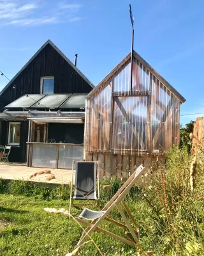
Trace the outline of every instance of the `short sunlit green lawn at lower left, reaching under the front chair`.
<path fill-rule="evenodd" d="M 72 252 L 82 234 L 80 227 L 68 216 L 50 214 L 43 207 L 68 209 L 68 201 L 0 195 L 0 255 L 66 255 Z M 80 211 L 73 208 L 72 214 L 75 216 Z M 104 225 L 111 226 L 106 228 L 112 228 L 112 231 L 115 229 L 109 223 Z M 92 238 L 105 255 L 135 252 L 134 248 L 98 232 Z M 88 243 L 78 255 L 99 253 L 92 243 Z"/>

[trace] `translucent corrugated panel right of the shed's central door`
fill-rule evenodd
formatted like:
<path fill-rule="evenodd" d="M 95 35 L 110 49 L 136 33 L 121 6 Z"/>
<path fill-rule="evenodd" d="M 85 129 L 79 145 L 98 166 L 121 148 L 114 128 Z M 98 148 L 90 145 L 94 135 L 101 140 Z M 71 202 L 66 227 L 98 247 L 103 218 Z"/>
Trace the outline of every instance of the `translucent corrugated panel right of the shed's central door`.
<path fill-rule="evenodd" d="M 156 77 L 151 77 L 151 150 L 164 154 L 164 150 L 179 145 L 180 102 Z"/>

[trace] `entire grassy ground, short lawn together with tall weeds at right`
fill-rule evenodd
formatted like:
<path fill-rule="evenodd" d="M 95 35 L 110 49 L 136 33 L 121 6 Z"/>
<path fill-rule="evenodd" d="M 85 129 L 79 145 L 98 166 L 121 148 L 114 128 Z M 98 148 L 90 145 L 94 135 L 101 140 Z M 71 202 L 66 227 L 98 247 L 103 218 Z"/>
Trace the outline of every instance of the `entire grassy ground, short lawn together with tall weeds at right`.
<path fill-rule="evenodd" d="M 204 148 L 197 154 L 196 172 L 192 174 L 193 156 L 189 156 L 186 148 L 174 147 L 168 154 L 166 168 L 161 170 L 155 163 L 152 173 L 138 184 L 140 189 L 134 186 L 126 196 L 126 204 L 140 227 L 140 245 L 144 251 L 153 251 L 158 256 L 204 255 L 203 152 Z M 121 186 L 117 179 L 102 180 L 101 188 L 105 184 L 111 184 L 112 189 L 101 189 L 101 208 Z M 44 207 L 68 209 L 68 205 L 68 186 L 52 190 L 20 180 L 5 184 L 0 179 L 0 255 L 64 256 L 72 252 L 82 229 L 66 215 L 43 210 Z M 81 211 L 72 207 L 73 216 Z M 116 210 L 110 217 L 122 222 Z M 101 227 L 124 236 L 107 221 Z M 92 239 L 103 255 L 139 256 L 136 248 L 105 234 L 94 232 Z M 99 253 L 93 243 L 87 243 L 77 255 Z"/>

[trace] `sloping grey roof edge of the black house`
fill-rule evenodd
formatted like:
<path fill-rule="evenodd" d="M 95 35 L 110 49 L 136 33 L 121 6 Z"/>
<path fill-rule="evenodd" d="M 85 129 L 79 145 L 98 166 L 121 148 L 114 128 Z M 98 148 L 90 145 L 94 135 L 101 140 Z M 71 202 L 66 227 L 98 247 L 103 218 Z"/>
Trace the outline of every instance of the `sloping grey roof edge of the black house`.
<path fill-rule="evenodd" d="M 62 53 L 60 51 L 59 48 L 57 48 L 56 45 L 53 44 L 53 42 L 51 40 L 47 40 L 47 42 L 45 42 L 45 44 L 43 44 L 40 49 L 33 55 L 33 57 L 27 61 L 27 63 L 24 65 L 24 67 L 22 67 L 20 69 L 20 71 L 18 71 L 18 73 L 11 79 L 11 81 L 6 84 L 6 86 L 3 88 L 3 90 L 0 92 L 0 96 L 2 95 L 2 93 L 10 86 L 11 83 L 13 83 L 13 81 L 20 75 L 21 72 L 24 71 L 24 69 L 31 63 L 31 61 L 34 60 L 34 58 L 36 58 L 36 56 L 45 48 L 45 46 L 47 46 L 48 44 L 50 44 L 61 56 L 62 58 L 64 58 L 64 60 L 66 60 L 69 65 L 91 86 L 91 88 L 95 88 L 94 84 L 91 83 L 91 81 L 89 81 L 89 79 L 87 77 L 84 76 L 84 74 L 82 74 L 82 72 L 80 72 L 80 70 L 64 55 L 64 53 Z"/>

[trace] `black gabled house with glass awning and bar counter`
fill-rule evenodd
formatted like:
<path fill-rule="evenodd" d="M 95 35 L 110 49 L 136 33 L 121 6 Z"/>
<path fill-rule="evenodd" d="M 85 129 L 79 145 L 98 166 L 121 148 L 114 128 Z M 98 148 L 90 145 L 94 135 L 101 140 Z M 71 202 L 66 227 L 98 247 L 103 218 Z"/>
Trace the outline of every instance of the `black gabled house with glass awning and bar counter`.
<path fill-rule="evenodd" d="M 68 168 L 75 156 L 83 159 L 85 96 L 92 88 L 45 42 L 0 93 L 0 145 L 11 145 L 9 161 L 60 168 L 62 158 L 61 168 Z"/>

